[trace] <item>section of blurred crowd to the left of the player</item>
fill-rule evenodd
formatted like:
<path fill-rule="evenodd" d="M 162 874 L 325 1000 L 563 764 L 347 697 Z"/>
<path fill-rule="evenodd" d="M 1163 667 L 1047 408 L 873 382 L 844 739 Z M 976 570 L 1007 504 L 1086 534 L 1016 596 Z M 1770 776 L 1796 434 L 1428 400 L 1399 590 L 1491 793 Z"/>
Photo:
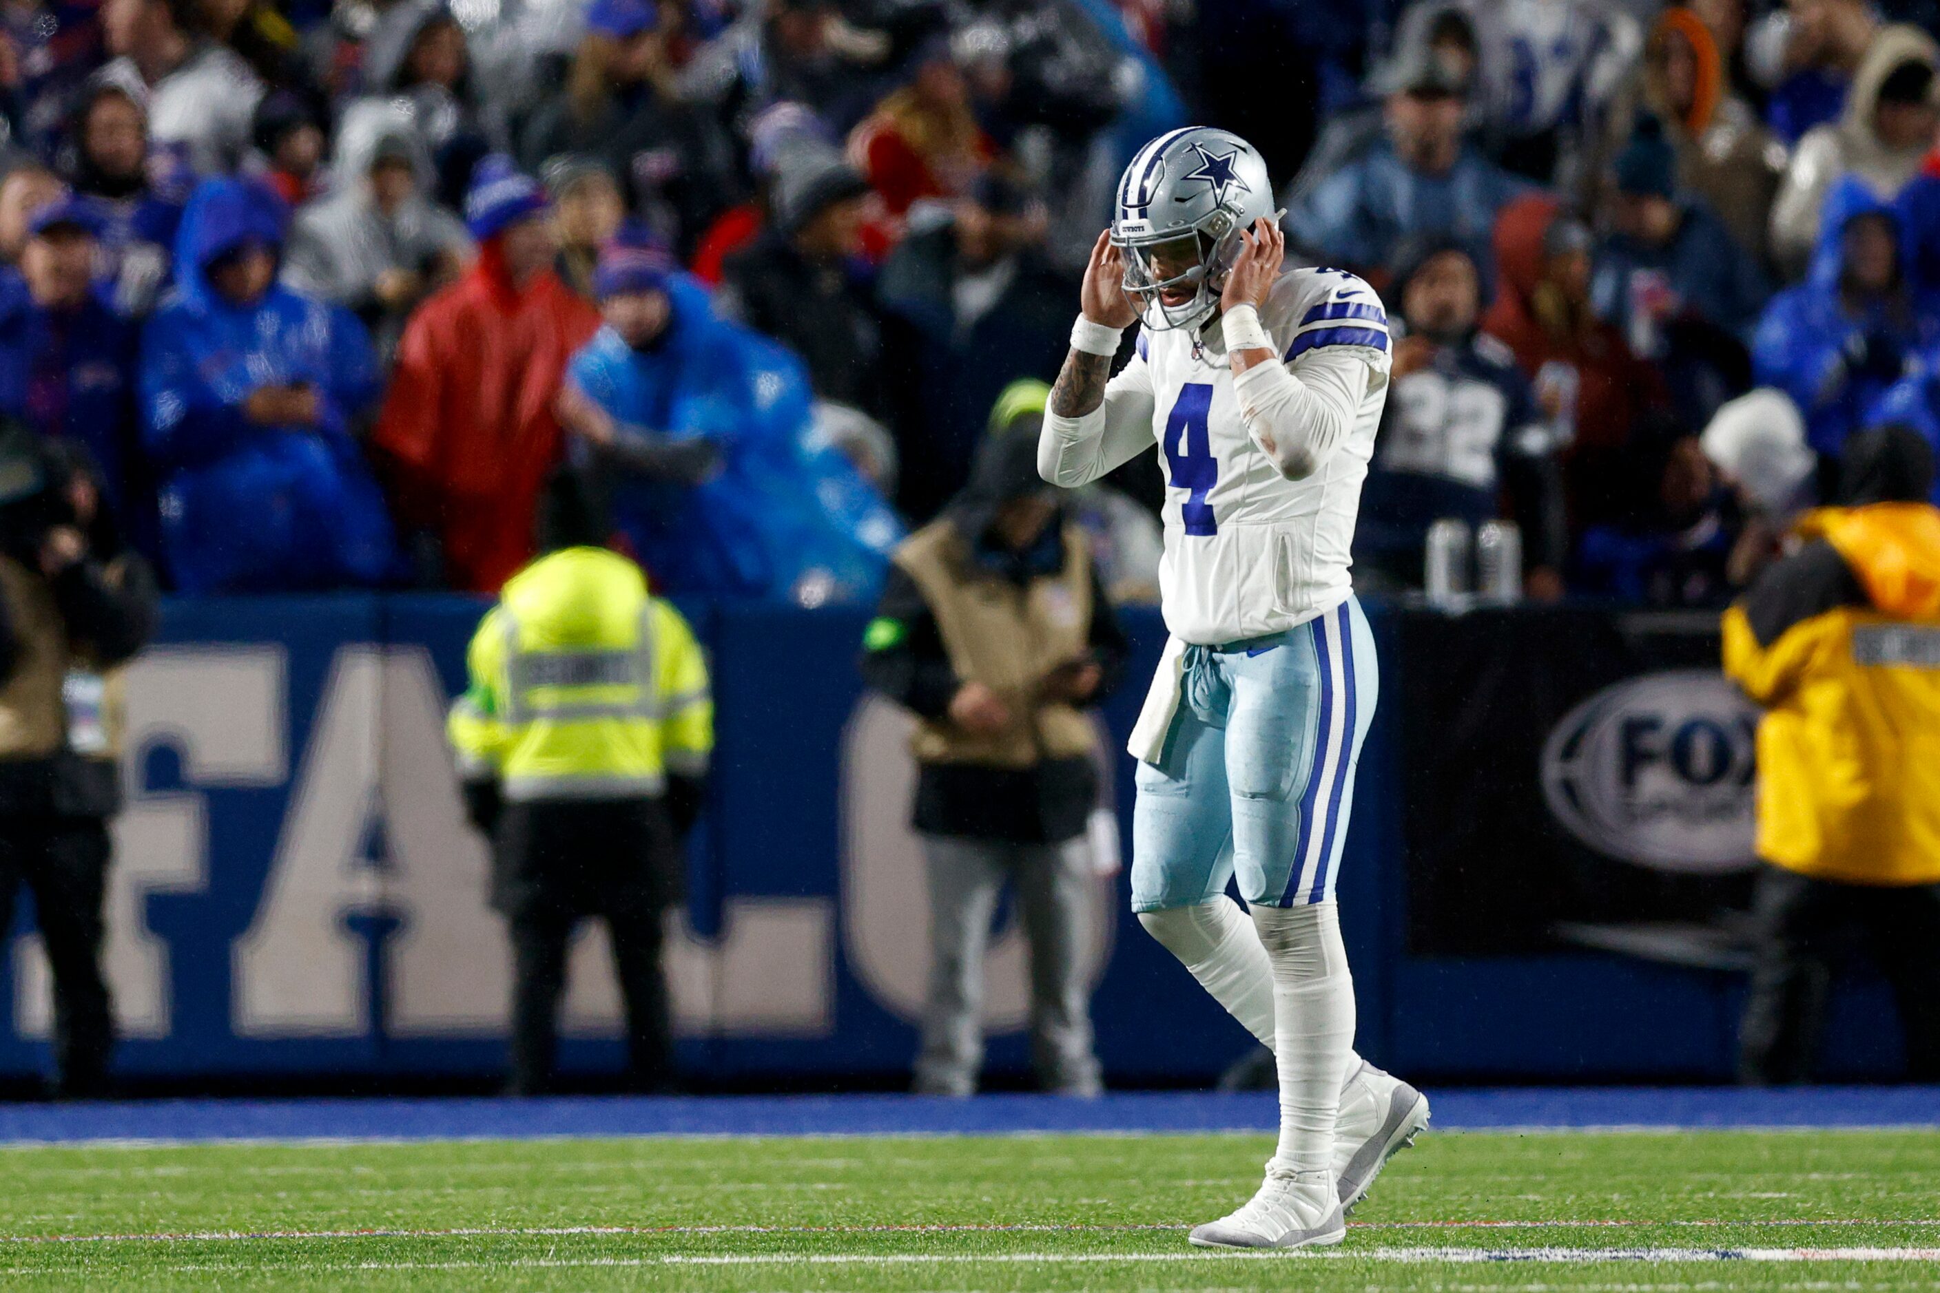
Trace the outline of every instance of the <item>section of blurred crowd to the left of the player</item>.
<path fill-rule="evenodd" d="M 0 415 L 173 587 L 495 591 L 566 471 L 665 591 L 803 605 L 1181 120 L 1096 0 L 29 0 L 0 112 Z"/>

